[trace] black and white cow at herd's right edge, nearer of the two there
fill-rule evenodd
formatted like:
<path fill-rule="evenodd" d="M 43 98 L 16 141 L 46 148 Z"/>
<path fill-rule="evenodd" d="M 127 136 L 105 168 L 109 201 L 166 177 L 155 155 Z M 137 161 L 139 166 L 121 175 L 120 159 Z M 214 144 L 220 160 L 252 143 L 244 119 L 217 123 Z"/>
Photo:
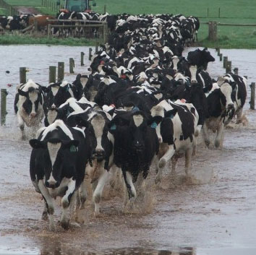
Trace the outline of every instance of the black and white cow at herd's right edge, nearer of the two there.
<path fill-rule="evenodd" d="M 223 129 L 234 118 L 235 105 L 233 96 L 236 95 L 236 83 L 230 85 L 228 82 L 222 82 L 221 86 L 213 83 L 213 88 L 206 94 L 208 103 L 209 117 L 205 120 L 202 127 L 203 137 L 207 147 L 210 145 L 208 129 L 217 131 L 214 142 L 215 147 L 222 147 Z"/>

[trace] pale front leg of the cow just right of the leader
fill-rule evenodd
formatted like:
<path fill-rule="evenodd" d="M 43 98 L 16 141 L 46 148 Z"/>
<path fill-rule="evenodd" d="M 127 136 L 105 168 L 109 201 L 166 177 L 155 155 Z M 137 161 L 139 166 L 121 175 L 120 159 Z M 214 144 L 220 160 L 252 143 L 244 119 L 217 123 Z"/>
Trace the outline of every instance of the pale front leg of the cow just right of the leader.
<path fill-rule="evenodd" d="M 100 215 L 101 195 L 102 195 L 104 186 L 106 184 L 106 181 L 108 181 L 108 177 L 109 177 L 108 171 L 103 169 L 103 173 L 98 178 L 97 186 L 95 188 L 95 191 L 93 192 L 93 202 L 95 203 L 94 215 L 96 217 Z"/>

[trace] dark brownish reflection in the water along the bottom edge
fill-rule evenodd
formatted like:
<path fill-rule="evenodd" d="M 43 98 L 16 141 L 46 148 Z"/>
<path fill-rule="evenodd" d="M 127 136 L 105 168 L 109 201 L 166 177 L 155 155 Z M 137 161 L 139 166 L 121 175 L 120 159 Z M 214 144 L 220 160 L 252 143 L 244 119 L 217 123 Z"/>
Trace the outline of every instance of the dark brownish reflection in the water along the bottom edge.
<path fill-rule="evenodd" d="M 107 251 L 81 251 L 69 243 L 44 241 L 40 255 L 196 255 L 195 248 L 177 248 L 175 251 L 155 250 L 153 248 L 118 248 Z"/>

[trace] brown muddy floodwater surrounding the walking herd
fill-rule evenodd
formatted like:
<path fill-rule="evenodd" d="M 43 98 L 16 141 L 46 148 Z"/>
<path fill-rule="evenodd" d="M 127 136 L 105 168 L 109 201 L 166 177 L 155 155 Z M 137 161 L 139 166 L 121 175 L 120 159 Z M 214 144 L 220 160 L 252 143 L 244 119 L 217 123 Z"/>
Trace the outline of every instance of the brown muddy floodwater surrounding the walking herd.
<path fill-rule="evenodd" d="M 65 61 L 68 68 L 70 57 L 77 64 L 75 72 L 86 72 L 87 66 L 79 66 L 81 51 L 88 48 L 1 46 L 1 88 L 17 85 L 20 66 L 27 66 L 27 78 L 42 85 L 48 84 L 48 66 Z M 224 55 L 249 83 L 256 81 L 255 64 L 244 63 L 255 61 L 255 51 L 229 50 Z M 4 74 L 6 70 L 11 73 Z M 208 71 L 213 77 L 224 73 L 217 56 Z M 256 113 L 248 110 L 248 103 L 249 125 L 227 129 L 223 150 L 200 144 L 189 178 L 184 160 L 179 160 L 176 176 L 170 177 L 166 168 L 160 187 L 153 184 L 151 171 L 142 212 L 124 214 L 122 192 L 107 187 L 100 217 L 93 216 L 88 201 L 79 215 L 80 227 L 64 231 L 57 225 L 56 233 L 50 233 L 48 222 L 40 220 L 43 204 L 30 183 L 30 147 L 17 132 L 15 87 L 8 90 L 7 126 L 0 129 L 0 254 L 256 254 Z M 56 223 L 60 213 L 57 199 Z"/>

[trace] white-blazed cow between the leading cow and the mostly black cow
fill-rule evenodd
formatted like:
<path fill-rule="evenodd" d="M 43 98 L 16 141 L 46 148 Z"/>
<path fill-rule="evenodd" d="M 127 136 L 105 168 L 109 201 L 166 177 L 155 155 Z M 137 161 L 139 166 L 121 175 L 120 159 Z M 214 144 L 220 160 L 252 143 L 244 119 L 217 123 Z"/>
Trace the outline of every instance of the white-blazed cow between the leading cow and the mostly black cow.
<path fill-rule="evenodd" d="M 77 124 L 85 127 L 85 137 L 89 161 L 85 169 L 86 175 L 90 177 L 93 188 L 93 202 L 95 203 L 95 216 L 100 214 L 101 195 L 104 186 L 111 178 L 109 172 L 113 165 L 114 137 L 108 131 L 108 123 L 111 116 L 105 111 L 96 111 L 89 108 L 82 113 L 71 113 L 67 118 L 67 124 Z M 86 195 L 85 183 L 82 184 L 81 192 Z M 81 205 L 83 207 L 83 204 Z"/>

